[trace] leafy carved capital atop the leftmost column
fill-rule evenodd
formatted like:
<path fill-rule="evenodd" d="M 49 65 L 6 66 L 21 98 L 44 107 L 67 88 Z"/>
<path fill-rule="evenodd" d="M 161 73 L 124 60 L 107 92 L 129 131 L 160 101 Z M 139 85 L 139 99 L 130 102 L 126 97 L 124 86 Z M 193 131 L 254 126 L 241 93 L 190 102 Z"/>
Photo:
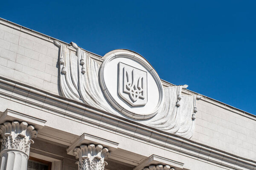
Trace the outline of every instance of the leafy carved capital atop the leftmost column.
<path fill-rule="evenodd" d="M 32 138 L 36 138 L 37 130 L 26 122 L 4 122 L 0 125 L 2 135 L 1 152 L 5 149 L 21 150 L 29 156 L 30 144 L 34 143 Z"/>

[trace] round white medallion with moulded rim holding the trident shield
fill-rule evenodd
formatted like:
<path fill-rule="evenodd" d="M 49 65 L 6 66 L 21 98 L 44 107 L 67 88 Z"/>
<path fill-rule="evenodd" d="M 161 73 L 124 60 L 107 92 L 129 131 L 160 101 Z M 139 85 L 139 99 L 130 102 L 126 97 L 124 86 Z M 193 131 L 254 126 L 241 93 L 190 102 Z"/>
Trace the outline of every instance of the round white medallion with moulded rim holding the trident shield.
<path fill-rule="evenodd" d="M 111 105 L 134 119 L 157 114 L 163 101 L 163 85 L 148 61 L 128 50 L 114 50 L 103 58 L 99 81 Z"/>

